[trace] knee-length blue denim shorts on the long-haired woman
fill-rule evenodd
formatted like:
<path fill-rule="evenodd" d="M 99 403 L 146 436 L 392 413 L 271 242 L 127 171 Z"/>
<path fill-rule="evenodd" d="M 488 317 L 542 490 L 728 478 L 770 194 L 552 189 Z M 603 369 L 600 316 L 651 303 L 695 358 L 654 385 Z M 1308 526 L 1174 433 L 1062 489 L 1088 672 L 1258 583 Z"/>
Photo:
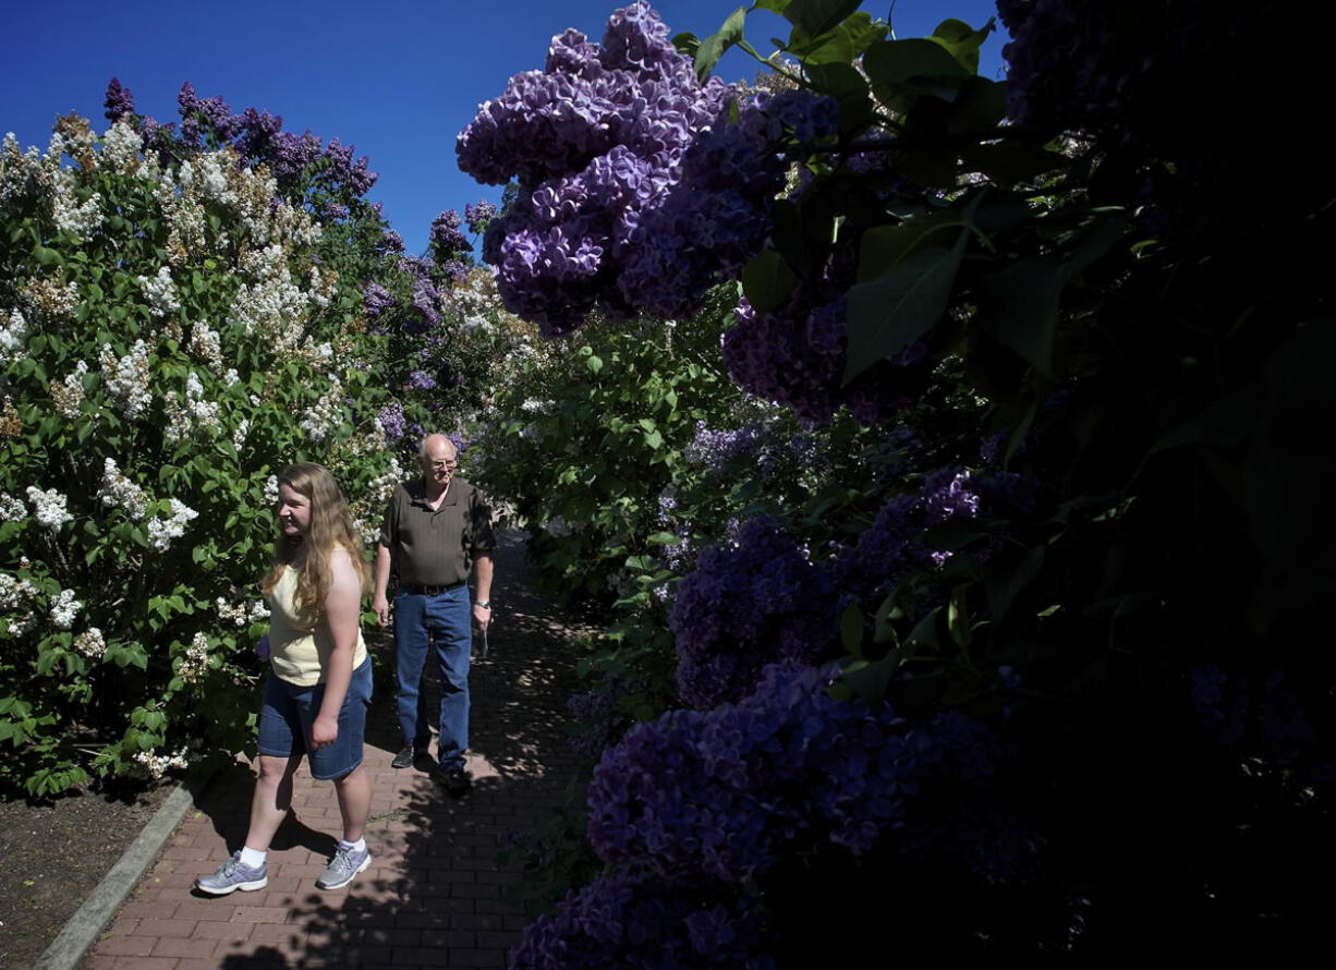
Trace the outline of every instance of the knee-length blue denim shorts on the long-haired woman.
<path fill-rule="evenodd" d="M 259 709 L 259 754 L 270 758 L 306 755 L 311 760 L 311 778 L 321 782 L 342 778 L 361 764 L 366 709 L 371 705 L 371 657 L 353 671 L 338 712 L 338 738 L 311 751 L 311 724 L 323 699 L 325 684 L 298 687 L 270 669 Z"/>

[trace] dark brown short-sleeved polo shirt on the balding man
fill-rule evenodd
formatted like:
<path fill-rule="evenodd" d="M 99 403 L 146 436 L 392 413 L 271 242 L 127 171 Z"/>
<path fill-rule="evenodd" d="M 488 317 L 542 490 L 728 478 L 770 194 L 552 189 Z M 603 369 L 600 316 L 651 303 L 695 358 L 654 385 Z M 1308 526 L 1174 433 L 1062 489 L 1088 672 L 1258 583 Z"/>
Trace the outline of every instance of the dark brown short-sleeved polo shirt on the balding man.
<path fill-rule="evenodd" d="M 465 583 L 473 560 L 496 548 L 492 510 L 482 493 L 462 478 L 433 509 L 426 481 L 414 478 L 394 488 L 381 522 L 381 545 L 390 550 L 401 584 L 446 587 Z"/>

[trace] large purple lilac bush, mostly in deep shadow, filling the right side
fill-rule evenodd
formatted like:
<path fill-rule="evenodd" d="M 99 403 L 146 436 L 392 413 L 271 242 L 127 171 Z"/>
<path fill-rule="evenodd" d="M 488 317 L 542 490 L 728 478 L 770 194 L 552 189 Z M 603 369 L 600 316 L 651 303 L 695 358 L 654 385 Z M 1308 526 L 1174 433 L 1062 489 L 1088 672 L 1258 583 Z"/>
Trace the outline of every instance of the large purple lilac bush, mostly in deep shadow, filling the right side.
<path fill-rule="evenodd" d="M 732 94 L 709 71 L 758 8 L 791 24 L 783 82 Z M 484 239 L 509 310 L 597 314 L 607 366 L 604 326 L 647 339 L 721 285 L 732 381 L 872 457 L 800 514 L 729 482 L 680 572 L 653 489 L 649 549 L 548 496 L 601 530 L 581 560 L 632 553 L 668 597 L 640 619 L 671 709 L 608 732 L 584 848 L 552 855 L 577 875 L 512 965 L 1297 950 L 1325 901 L 1292 875 L 1332 860 L 1332 667 L 1304 633 L 1329 530 L 1299 498 L 1332 464 L 1308 430 L 1333 416 L 1331 192 L 1275 107 L 1320 72 L 1277 4 L 1003 3 L 1006 83 L 977 75 L 989 25 L 899 39 L 858 8 L 762 0 L 700 40 L 631 4 L 460 136 L 517 183 Z M 617 472 L 578 398 L 550 395 L 581 442 L 560 474 Z M 655 488 L 691 481 L 691 424 Z"/>

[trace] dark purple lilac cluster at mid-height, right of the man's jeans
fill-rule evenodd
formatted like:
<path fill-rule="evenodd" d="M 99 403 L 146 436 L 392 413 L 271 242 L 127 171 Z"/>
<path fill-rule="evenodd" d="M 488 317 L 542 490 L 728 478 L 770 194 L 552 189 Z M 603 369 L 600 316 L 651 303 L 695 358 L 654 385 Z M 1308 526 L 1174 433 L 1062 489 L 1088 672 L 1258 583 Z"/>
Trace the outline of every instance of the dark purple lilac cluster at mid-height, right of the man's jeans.
<path fill-rule="evenodd" d="M 815 661 L 835 633 L 832 593 L 828 569 L 770 516 L 748 520 L 736 546 L 703 549 L 668 619 L 683 700 L 697 708 L 737 700 L 767 664 Z"/>

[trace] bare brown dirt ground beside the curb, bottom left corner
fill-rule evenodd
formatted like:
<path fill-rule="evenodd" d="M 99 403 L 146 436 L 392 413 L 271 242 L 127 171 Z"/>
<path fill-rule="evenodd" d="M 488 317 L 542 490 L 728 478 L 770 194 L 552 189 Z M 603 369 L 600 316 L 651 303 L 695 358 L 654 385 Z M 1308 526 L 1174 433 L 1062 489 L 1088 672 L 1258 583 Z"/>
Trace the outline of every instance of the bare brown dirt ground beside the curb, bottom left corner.
<path fill-rule="evenodd" d="M 0 967 L 37 962 L 172 788 L 0 802 Z"/>

